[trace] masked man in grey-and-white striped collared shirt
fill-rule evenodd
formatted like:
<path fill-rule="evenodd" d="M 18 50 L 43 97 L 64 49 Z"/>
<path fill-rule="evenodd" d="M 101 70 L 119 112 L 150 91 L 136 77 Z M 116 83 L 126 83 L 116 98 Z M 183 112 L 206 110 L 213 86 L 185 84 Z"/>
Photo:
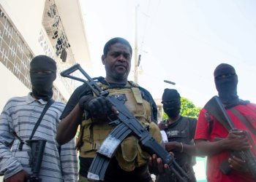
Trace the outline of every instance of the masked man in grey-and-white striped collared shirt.
<path fill-rule="evenodd" d="M 34 57 L 29 70 L 32 91 L 10 98 L 1 112 L 0 174 L 5 182 L 78 181 L 75 140 L 61 147 L 56 142 L 65 106 L 51 99 L 56 70 L 52 58 Z"/>

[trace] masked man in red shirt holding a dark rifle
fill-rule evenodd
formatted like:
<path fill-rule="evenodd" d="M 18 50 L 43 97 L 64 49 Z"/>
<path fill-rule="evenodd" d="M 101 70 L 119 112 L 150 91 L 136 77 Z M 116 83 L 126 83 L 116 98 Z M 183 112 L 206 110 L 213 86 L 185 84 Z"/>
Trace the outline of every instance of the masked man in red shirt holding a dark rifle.
<path fill-rule="evenodd" d="M 221 122 L 219 114 L 213 114 L 218 108 L 211 106 L 210 100 L 200 111 L 195 143 L 197 149 L 208 156 L 207 180 L 256 181 L 252 173 L 256 169 L 256 105 L 238 98 L 238 76 L 233 66 L 225 63 L 217 66 L 214 81 L 221 101 L 219 106 L 225 107 L 222 113 L 227 114 L 226 120 L 230 118 L 231 122 Z M 241 159 L 248 152 L 251 159 Z"/>

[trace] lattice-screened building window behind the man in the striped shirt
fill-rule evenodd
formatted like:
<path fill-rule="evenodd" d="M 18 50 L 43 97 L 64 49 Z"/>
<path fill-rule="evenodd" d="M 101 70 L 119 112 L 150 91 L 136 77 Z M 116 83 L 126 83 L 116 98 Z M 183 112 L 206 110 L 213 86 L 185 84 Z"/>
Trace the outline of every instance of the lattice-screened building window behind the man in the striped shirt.
<path fill-rule="evenodd" d="M 34 55 L 28 44 L 23 41 L 17 28 L 0 7 L 0 62 L 29 90 L 31 90 L 29 64 L 32 58 Z M 67 101 L 56 87 L 53 87 L 53 98 L 62 102 Z"/>

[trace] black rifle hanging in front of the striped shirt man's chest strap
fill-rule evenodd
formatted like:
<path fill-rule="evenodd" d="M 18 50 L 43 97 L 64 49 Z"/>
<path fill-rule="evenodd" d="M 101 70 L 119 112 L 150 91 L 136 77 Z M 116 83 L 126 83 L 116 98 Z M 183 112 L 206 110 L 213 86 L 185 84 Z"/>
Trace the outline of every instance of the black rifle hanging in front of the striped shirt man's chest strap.
<path fill-rule="evenodd" d="M 45 151 L 44 140 L 28 140 L 26 141 L 31 147 L 31 153 L 29 152 L 29 165 L 31 166 L 32 174 L 29 175 L 27 182 L 40 182 L 39 171 L 42 165 L 42 157 Z"/>

